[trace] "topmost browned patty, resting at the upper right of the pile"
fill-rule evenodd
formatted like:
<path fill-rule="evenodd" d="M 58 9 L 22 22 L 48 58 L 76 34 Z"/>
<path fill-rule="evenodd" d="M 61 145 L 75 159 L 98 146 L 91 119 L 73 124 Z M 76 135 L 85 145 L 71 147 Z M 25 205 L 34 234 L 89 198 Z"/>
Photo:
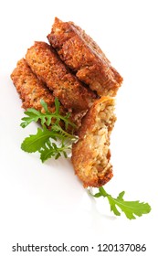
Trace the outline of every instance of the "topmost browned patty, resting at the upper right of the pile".
<path fill-rule="evenodd" d="M 122 78 L 100 47 L 73 22 L 62 22 L 57 17 L 47 36 L 59 57 L 72 69 L 79 80 L 98 95 L 115 96 Z"/>

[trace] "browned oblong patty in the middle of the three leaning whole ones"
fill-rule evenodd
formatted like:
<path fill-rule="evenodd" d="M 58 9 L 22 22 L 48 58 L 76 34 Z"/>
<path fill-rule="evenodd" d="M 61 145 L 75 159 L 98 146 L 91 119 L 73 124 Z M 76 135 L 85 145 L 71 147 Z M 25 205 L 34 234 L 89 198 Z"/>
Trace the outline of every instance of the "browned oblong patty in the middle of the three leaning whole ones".
<path fill-rule="evenodd" d="M 95 94 L 71 74 L 47 43 L 35 42 L 26 52 L 26 62 L 66 109 L 81 112 L 90 108 Z"/>

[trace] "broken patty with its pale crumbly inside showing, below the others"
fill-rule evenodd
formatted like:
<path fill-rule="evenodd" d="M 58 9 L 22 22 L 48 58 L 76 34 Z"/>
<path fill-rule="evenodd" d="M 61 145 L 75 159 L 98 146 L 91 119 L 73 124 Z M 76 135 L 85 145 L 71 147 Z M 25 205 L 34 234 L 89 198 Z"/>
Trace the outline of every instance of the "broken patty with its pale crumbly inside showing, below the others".
<path fill-rule="evenodd" d="M 114 99 L 101 97 L 91 106 L 72 146 L 72 164 L 84 187 L 100 187 L 112 175 L 110 134 L 116 121 Z"/>

